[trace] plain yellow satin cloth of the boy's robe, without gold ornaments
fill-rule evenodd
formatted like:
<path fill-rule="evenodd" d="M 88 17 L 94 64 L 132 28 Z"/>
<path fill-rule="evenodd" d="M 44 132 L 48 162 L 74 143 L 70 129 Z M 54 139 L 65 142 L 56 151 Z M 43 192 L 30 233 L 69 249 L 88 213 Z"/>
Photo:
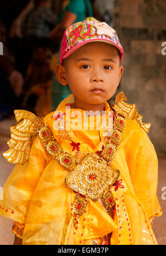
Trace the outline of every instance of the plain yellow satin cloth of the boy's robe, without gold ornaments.
<path fill-rule="evenodd" d="M 70 95 L 57 110 L 65 112 L 66 103 L 72 101 Z M 110 107 L 106 102 L 108 110 Z M 54 129 L 53 115 L 45 117 L 46 124 L 63 149 L 75 155 L 71 142 L 61 139 Z M 105 145 L 102 129 L 71 130 L 69 135 L 72 141 L 80 142 L 80 151 L 85 153 L 101 150 Z M 74 227 L 76 194 L 64 182 L 69 171 L 52 159 L 37 135 L 33 139 L 29 161 L 23 166 L 15 166 L 4 185 L 0 214 L 25 224 L 24 245 L 89 244 L 87 240 L 93 241 L 111 232 L 111 244 L 157 244 L 149 221 L 162 214 L 156 196 L 158 161 L 149 137 L 136 121 L 127 119 L 111 166 L 121 171 L 123 185 L 116 191 L 112 186 L 116 199 L 115 219 L 106 213 L 99 201 L 89 199 L 85 213 Z"/>

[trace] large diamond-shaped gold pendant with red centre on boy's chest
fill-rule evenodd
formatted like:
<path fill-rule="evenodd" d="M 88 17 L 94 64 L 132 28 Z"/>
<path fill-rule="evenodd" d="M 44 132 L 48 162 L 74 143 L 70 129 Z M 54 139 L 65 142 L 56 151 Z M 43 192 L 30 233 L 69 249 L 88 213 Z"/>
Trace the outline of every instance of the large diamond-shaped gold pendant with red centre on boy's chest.
<path fill-rule="evenodd" d="M 66 177 L 65 184 L 76 193 L 97 201 L 119 176 L 119 170 L 102 161 L 99 163 L 94 156 L 87 154 Z"/>

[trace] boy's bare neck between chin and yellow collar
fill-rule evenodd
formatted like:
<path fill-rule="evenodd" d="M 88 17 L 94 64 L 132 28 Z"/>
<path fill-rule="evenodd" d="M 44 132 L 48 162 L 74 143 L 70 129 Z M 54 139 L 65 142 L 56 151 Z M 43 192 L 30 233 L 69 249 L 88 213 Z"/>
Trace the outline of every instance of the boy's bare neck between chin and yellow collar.
<path fill-rule="evenodd" d="M 85 111 L 100 111 L 100 113 L 102 114 L 102 111 L 105 110 L 105 102 L 101 103 L 101 104 L 85 104 L 85 102 L 81 102 L 81 101 L 77 101 L 77 99 L 75 99 L 74 104 L 72 104 L 72 109 L 82 109 Z"/>

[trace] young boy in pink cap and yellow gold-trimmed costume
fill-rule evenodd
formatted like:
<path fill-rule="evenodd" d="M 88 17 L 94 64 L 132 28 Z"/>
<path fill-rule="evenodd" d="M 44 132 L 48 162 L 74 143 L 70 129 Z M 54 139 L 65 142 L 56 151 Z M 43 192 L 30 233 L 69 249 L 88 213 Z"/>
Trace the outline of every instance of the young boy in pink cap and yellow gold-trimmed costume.
<path fill-rule="evenodd" d="M 121 80 L 122 57 L 106 23 L 89 17 L 73 24 L 56 66 L 58 81 L 72 95 L 44 120 L 15 111 L 16 120 L 24 120 L 11 128 L 3 156 L 17 165 L 0 201 L 0 213 L 15 221 L 15 244 L 157 244 L 152 220 L 162 210 L 150 125 L 123 92 L 112 107 L 107 103 Z M 113 116 L 113 130 L 93 127 L 94 111 L 99 124 Z"/>

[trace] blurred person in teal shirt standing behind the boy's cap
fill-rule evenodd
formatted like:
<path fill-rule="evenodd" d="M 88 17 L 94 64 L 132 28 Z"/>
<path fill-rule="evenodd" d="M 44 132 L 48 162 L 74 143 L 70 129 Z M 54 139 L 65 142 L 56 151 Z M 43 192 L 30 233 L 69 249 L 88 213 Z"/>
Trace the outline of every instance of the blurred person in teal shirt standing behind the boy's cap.
<path fill-rule="evenodd" d="M 71 0 L 64 1 L 63 11 L 61 11 L 58 25 L 49 33 L 50 39 L 53 43 L 59 41 L 60 43 L 63 38 L 63 33 L 66 28 L 71 24 L 79 21 L 84 21 L 86 17 L 92 17 L 92 4 L 90 0 Z M 59 61 L 59 54 L 56 53 L 52 62 L 52 67 L 55 68 L 56 63 Z M 52 107 L 53 110 L 59 105 L 59 103 L 65 99 L 71 93 L 68 86 L 62 86 L 56 80 L 54 74 L 53 88 L 52 88 Z"/>

